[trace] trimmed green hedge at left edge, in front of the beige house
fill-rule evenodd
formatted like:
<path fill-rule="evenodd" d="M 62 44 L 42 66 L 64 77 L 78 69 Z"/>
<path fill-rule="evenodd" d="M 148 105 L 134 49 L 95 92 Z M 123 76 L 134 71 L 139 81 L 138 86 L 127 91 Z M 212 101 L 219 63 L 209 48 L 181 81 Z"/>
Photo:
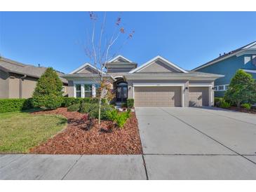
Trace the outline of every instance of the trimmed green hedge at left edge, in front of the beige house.
<path fill-rule="evenodd" d="M 0 113 L 32 109 L 32 98 L 29 99 L 0 99 Z"/>

